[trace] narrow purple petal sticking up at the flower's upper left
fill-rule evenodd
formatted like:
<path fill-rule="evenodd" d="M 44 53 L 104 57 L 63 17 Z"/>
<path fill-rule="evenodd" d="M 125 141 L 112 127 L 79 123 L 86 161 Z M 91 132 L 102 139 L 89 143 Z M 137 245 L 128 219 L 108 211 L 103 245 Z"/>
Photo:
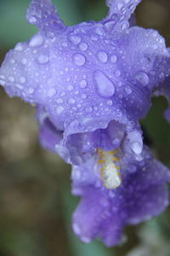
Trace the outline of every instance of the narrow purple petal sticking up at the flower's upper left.
<path fill-rule="evenodd" d="M 32 0 L 26 18 L 42 32 L 59 32 L 65 28 L 51 0 Z"/>

